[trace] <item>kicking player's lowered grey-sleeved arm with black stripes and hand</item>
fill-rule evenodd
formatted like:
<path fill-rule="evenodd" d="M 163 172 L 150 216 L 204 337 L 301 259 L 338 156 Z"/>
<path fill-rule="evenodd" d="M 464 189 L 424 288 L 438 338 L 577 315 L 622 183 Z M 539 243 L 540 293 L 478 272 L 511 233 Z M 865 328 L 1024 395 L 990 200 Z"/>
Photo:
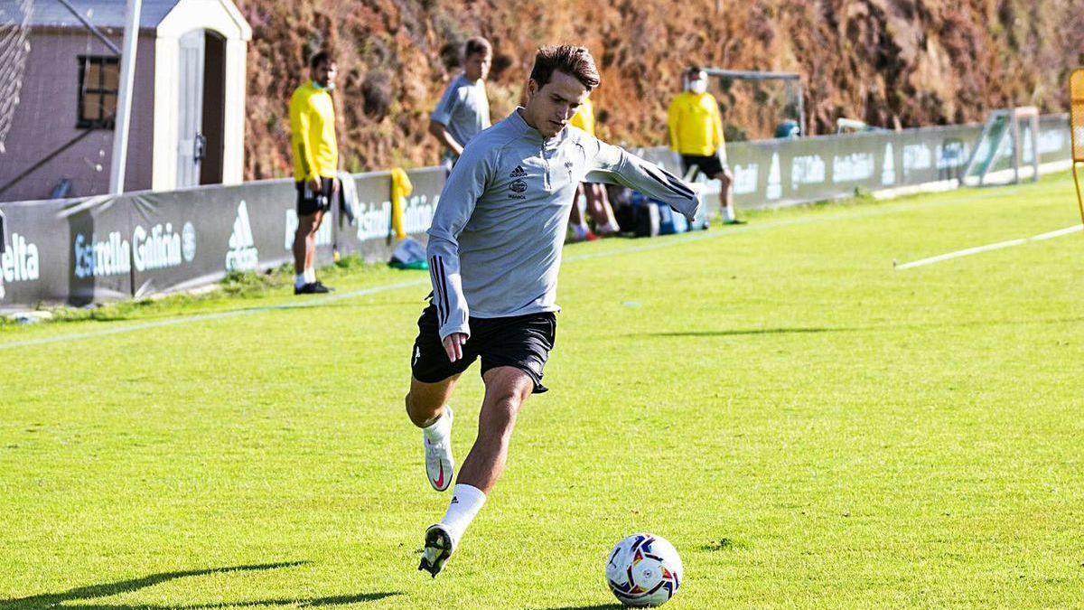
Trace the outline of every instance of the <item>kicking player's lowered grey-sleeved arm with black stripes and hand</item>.
<path fill-rule="evenodd" d="M 470 335 L 468 323 L 469 309 L 463 296 L 463 281 L 460 276 L 459 237 L 474 214 L 478 198 L 486 192 L 492 175 L 493 161 L 491 147 L 483 142 L 467 147 L 463 156 L 452 168 L 448 182 L 440 193 L 437 209 L 433 214 L 433 226 L 429 227 L 429 245 L 426 246 L 426 257 L 429 260 L 429 279 L 433 282 L 433 304 L 437 307 L 437 319 L 440 325 L 440 339 L 449 348 L 449 358 L 453 350 Z M 451 336 L 460 334 L 462 336 Z M 449 338 L 452 339 L 450 345 Z M 462 340 L 462 341 L 459 341 Z M 454 352 L 461 355 L 461 352 Z"/>

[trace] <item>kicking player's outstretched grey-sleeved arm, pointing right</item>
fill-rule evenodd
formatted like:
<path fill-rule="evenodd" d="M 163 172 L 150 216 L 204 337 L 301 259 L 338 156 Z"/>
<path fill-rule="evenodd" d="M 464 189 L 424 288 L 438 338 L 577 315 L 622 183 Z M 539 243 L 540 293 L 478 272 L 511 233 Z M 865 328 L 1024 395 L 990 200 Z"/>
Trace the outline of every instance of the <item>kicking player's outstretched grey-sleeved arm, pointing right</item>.
<path fill-rule="evenodd" d="M 620 147 L 595 138 L 584 139 L 589 182 L 621 185 L 664 201 L 692 221 L 700 213 L 696 189 L 681 178 Z"/>

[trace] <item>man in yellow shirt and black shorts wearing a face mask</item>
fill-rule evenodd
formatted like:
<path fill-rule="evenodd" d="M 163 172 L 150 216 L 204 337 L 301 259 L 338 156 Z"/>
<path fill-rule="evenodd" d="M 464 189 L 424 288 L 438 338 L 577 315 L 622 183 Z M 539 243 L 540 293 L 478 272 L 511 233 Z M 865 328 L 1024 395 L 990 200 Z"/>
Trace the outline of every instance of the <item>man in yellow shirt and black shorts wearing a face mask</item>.
<path fill-rule="evenodd" d="M 723 221 L 741 224 L 734 216 L 734 177 L 726 164 L 726 142 L 719 103 L 708 92 L 708 75 L 698 66 L 685 71 L 685 91 L 670 102 L 667 124 L 670 148 L 681 155 L 683 170 L 688 175 L 694 165 L 712 180 L 721 182 L 719 204 Z"/>

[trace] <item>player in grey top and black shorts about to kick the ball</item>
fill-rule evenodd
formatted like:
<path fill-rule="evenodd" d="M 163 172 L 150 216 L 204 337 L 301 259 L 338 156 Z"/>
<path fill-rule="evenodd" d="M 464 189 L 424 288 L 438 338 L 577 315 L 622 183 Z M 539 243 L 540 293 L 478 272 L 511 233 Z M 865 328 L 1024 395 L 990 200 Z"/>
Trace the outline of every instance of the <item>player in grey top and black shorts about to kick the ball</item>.
<path fill-rule="evenodd" d="M 448 511 L 425 533 L 418 569 L 434 576 L 500 479 L 520 406 L 546 391 L 542 368 L 556 333 L 557 270 L 577 185 L 620 183 L 689 219 L 698 212 L 693 188 L 675 176 L 567 127 L 597 86 L 586 49 L 540 49 L 527 105 L 470 140 L 437 204 L 427 247 L 431 302 L 417 322 L 406 395 L 435 490 L 447 490 L 455 470 L 448 401 L 479 356 L 486 396 Z"/>

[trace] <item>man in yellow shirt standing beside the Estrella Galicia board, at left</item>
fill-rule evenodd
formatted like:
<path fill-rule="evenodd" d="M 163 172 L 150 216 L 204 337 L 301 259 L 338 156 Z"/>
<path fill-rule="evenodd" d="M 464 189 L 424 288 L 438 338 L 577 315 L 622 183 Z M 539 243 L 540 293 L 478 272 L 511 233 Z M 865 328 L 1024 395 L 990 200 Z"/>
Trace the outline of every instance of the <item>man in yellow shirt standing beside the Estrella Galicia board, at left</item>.
<path fill-rule="evenodd" d="M 294 294 L 331 289 L 317 280 L 317 231 L 338 192 L 338 145 L 335 142 L 335 88 L 338 66 L 325 51 L 309 60 L 309 80 L 289 99 L 291 149 L 297 183 L 297 231 L 294 232 Z"/>

